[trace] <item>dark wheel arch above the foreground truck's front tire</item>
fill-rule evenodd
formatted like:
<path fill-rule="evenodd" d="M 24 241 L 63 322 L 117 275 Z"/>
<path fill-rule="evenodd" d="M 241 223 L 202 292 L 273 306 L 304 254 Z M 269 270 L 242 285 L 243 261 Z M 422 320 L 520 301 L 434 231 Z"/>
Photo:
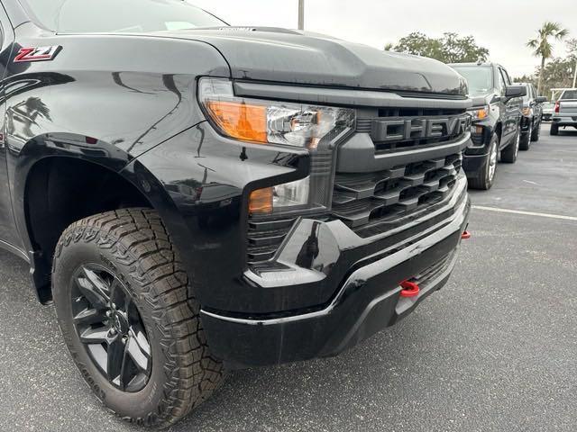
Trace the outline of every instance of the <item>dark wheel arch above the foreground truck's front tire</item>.
<path fill-rule="evenodd" d="M 138 173 L 124 169 L 129 164 L 138 165 Z M 69 224 L 125 207 L 149 207 L 161 216 L 176 208 L 160 182 L 133 157 L 103 140 L 77 134 L 50 133 L 29 140 L 16 158 L 12 184 L 16 227 L 43 303 L 51 300 L 54 247 Z"/>

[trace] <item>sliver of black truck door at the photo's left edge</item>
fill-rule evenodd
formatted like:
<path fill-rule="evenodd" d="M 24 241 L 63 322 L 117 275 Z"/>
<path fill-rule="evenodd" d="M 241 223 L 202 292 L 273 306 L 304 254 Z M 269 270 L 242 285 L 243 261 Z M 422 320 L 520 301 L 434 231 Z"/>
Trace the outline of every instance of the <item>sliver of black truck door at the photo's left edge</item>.
<path fill-rule="evenodd" d="M 6 67 L 14 47 L 14 30 L 0 5 L 0 247 L 22 247 L 20 236 L 16 231 L 12 199 L 8 180 L 8 166 L 5 140 L 5 77 Z"/>

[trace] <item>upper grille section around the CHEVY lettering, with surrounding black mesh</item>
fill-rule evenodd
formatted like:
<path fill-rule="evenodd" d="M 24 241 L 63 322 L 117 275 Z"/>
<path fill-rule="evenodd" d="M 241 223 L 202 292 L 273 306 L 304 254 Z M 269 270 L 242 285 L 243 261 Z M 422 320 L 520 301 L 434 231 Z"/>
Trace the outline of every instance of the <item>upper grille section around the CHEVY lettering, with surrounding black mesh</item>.
<path fill-rule="evenodd" d="M 460 138 L 471 125 L 464 110 L 379 110 L 377 118 L 360 118 L 356 130 L 369 133 L 377 152 L 435 146 Z"/>

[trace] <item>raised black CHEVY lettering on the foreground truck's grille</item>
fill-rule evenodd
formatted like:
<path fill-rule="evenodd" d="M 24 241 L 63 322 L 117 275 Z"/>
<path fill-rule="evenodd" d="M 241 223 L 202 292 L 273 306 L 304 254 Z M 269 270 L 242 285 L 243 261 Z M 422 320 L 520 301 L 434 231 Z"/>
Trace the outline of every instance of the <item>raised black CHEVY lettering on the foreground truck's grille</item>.
<path fill-rule="evenodd" d="M 375 119 L 371 137 L 378 142 L 406 139 L 443 139 L 461 136 L 471 128 L 471 116 L 463 114 L 453 117 L 400 119 Z"/>

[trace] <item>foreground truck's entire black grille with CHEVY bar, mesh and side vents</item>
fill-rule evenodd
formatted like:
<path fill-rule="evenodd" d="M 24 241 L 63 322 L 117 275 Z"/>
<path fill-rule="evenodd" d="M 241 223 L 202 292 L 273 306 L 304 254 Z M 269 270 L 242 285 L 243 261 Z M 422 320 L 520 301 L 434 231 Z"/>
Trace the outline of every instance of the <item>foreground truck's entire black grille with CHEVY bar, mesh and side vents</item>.
<path fill-rule="evenodd" d="M 370 134 L 380 154 L 456 141 L 470 130 L 471 124 L 464 110 L 387 108 L 372 113 L 371 118 L 357 119 L 356 131 Z M 312 157 L 315 167 L 311 173 L 312 191 L 322 195 L 315 178 L 332 171 L 333 157 L 333 151 Z M 379 172 L 337 172 L 331 214 L 317 216 L 323 220 L 343 220 L 363 238 L 380 234 L 391 224 L 401 223 L 404 217 L 427 211 L 442 202 L 452 192 L 462 162 L 460 154 L 453 154 Z M 247 233 L 248 263 L 254 265 L 273 258 L 296 220 L 251 217 Z"/>

